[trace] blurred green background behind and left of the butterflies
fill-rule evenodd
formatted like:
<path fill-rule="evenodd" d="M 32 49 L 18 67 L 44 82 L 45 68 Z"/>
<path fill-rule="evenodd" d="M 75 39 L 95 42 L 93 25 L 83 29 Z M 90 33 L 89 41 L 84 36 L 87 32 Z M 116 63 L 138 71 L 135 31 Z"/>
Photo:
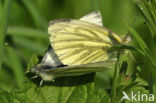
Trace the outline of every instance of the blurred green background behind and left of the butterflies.
<path fill-rule="evenodd" d="M 6 1 L 10 0 L 0 1 L 1 24 L 4 20 L 2 11 Z M 7 46 L 4 46 L 4 52 L 0 57 L 3 60 L 0 69 L 0 88 L 11 90 L 22 87 L 24 72 L 32 54 L 43 56 L 50 45 L 47 33 L 49 21 L 58 18 L 79 19 L 95 10 L 101 12 L 104 26 L 119 35 L 129 33 L 123 19 L 134 28 L 144 24 L 144 19 L 133 0 L 12 0 L 6 20 L 8 29 L 4 35 L 4 44 Z M 146 26 L 142 27 L 147 34 Z M 148 42 L 148 37 L 142 36 Z M 129 68 L 133 67 L 131 63 Z M 112 74 L 112 71 L 97 73 L 96 87 L 110 88 Z"/>

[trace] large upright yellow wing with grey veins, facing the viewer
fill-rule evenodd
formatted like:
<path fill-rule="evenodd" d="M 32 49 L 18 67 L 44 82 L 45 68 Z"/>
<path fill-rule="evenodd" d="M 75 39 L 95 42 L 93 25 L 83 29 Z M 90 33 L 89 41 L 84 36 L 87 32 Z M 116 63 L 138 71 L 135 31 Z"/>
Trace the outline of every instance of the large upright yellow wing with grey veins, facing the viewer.
<path fill-rule="evenodd" d="M 50 22 L 50 42 L 60 61 L 69 66 L 106 61 L 106 48 L 122 43 L 120 37 L 107 28 L 74 19 Z"/>

